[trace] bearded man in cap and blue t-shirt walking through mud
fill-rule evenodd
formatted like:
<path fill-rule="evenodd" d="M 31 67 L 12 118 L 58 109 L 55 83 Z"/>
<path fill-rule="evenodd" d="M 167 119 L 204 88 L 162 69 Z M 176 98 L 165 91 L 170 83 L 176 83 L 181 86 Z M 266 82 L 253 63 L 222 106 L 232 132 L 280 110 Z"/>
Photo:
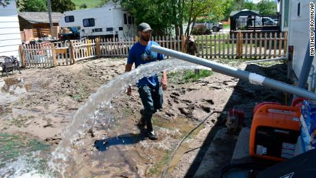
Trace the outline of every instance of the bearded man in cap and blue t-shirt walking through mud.
<path fill-rule="evenodd" d="M 153 30 L 148 23 L 140 23 L 138 25 L 139 41 L 131 47 L 128 53 L 127 64 L 125 71 L 131 71 L 133 63 L 135 67 L 151 63 L 156 60 L 163 60 L 164 55 L 151 50 L 152 45 L 158 45 L 155 41 L 150 41 L 150 36 Z M 163 91 L 167 89 L 167 73 L 163 71 L 161 79 L 161 85 Z M 142 119 L 140 124 L 146 125 L 148 138 L 150 140 L 157 140 L 157 135 L 153 130 L 153 122 L 151 120 L 153 113 L 162 108 L 163 97 L 160 87 L 160 82 L 157 74 L 150 77 L 144 77 L 137 82 L 139 96 L 142 100 L 144 109 L 141 110 Z M 127 94 L 131 95 L 131 86 L 127 89 Z"/>

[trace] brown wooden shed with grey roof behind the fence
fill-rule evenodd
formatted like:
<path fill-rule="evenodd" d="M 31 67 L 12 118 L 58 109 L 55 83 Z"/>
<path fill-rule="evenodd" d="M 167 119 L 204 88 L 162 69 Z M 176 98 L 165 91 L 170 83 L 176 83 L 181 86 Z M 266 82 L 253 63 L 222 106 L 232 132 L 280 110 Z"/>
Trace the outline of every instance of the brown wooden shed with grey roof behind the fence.
<path fill-rule="evenodd" d="M 58 26 L 62 15 L 60 12 L 52 12 L 54 26 Z M 20 31 L 32 29 L 34 38 L 40 38 L 43 34 L 51 34 L 48 12 L 19 12 L 19 23 Z"/>

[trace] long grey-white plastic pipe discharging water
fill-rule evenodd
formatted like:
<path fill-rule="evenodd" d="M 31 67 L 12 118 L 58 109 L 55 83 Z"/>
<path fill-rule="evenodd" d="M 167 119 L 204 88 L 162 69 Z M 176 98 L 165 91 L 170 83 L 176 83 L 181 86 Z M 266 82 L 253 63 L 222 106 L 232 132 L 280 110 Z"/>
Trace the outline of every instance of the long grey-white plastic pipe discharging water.
<path fill-rule="evenodd" d="M 292 85 L 286 84 L 284 82 L 280 82 L 278 80 L 273 80 L 271 78 L 266 78 L 264 76 L 260 76 L 258 74 L 250 73 L 248 71 L 243 71 L 240 69 L 236 69 L 234 67 L 229 67 L 227 65 L 222 65 L 220 63 L 215 63 L 210 60 L 205 60 L 203 58 L 199 58 L 196 56 L 192 56 L 189 54 L 184 54 L 182 52 L 177 52 L 172 49 L 167 49 L 165 47 L 160 47 L 157 45 L 152 45 L 151 49 L 154 52 L 158 52 L 161 54 L 166 54 L 167 56 L 172 56 L 174 58 L 179 58 L 181 60 L 188 61 L 190 63 L 194 63 L 197 65 L 203 65 L 205 67 L 212 68 L 213 71 L 216 71 L 221 74 L 225 74 L 227 76 L 233 76 L 236 78 L 242 78 L 245 80 L 249 80 L 252 84 L 263 85 L 264 87 L 270 87 L 273 89 L 278 89 L 280 91 L 293 93 L 297 96 L 301 96 L 304 98 L 309 98 L 311 100 L 316 100 L 316 93 L 311 91 L 307 91 L 306 89 L 301 89 L 299 87 L 294 87 Z"/>

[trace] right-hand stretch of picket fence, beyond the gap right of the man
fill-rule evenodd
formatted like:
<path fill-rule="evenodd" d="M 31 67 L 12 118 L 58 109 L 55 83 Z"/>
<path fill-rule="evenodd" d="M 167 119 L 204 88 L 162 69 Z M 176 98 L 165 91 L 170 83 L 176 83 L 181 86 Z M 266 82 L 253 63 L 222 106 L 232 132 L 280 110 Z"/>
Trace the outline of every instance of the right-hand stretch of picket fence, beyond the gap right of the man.
<path fill-rule="evenodd" d="M 287 34 L 236 33 L 196 36 L 202 58 L 275 58 L 286 55 Z"/>

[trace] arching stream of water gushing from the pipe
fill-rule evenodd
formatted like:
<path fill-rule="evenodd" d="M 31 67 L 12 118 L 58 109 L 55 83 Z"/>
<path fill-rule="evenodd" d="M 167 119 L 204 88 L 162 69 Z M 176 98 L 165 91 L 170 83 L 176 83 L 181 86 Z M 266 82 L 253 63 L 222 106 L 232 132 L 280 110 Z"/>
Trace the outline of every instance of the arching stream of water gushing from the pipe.
<path fill-rule="evenodd" d="M 124 93 L 129 84 L 133 85 L 140 78 L 143 78 L 144 76 L 152 76 L 165 69 L 174 71 L 178 69 L 209 68 L 201 67 L 183 60 L 168 59 L 139 66 L 137 69 L 133 69 L 130 72 L 113 78 L 113 80 L 106 83 L 106 85 L 102 85 L 100 89 L 98 89 L 96 93 L 93 93 L 87 102 L 75 113 L 73 120 L 62 135 L 62 141 L 51 155 L 52 158 L 48 163 L 49 168 L 47 169 L 46 175 L 54 175 L 54 173 L 57 173 L 57 176 L 60 174 L 63 177 L 71 177 L 77 170 L 80 170 L 80 165 L 76 163 L 82 162 L 84 157 L 78 156 L 82 154 L 78 147 L 82 146 L 84 143 L 78 141 L 82 138 L 82 135 L 87 133 L 89 128 L 98 124 L 100 120 L 100 111 L 104 111 L 105 109 L 106 113 L 103 113 L 104 117 L 102 117 L 102 119 L 106 118 L 108 124 L 113 123 L 113 120 L 120 119 L 113 117 L 111 100 L 113 100 L 115 96 Z M 71 173 L 67 170 L 71 170 Z"/>

